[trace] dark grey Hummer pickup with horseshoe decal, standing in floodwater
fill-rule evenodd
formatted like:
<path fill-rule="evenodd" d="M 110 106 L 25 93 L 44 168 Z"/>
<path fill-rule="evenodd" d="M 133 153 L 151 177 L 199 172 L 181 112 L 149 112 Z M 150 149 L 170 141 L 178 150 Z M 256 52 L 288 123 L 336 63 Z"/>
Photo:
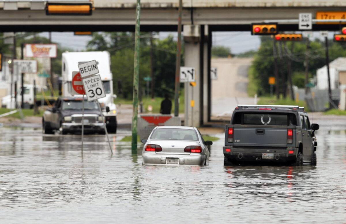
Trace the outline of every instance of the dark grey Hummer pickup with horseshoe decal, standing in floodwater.
<path fill-rule="evenodd" d="M 226 125 L 224 166 L 251 161 L 316 165 L 318 129 L 299 106 L 238 105 Z"/>

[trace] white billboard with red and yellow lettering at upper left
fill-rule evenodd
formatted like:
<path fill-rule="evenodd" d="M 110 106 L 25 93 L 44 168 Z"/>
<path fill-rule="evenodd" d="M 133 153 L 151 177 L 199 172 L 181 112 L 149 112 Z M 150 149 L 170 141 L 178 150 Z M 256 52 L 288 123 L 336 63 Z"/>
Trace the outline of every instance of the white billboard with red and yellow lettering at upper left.
<path fill-rule="evenodd" d="M 25 57 L 56 57 L 56 44 L 26 44 Z"/>

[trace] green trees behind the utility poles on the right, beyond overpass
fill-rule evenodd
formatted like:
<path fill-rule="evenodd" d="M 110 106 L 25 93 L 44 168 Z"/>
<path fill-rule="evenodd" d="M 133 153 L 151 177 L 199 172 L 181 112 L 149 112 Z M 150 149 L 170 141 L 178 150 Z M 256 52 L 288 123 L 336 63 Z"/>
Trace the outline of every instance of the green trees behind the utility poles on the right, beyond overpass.
<path fill-rule="evenodd" d="M 337 43 L 329 40 L 329 60 L 330 62 L 338 57 L 346 57 L 346 48 L 344 43 Z M 306 39 L 301 42 L 281 42 L 277 43 L 276 48 L 282 47 L 283 61 L 281 62 L 279 55 L 277 58 L 279 76 L 283 71 L 284 76 L 287 72 L 287 61 L 291 59 L 292 67 L 292 81 L 293 85 L 298 87 L 304 87 L 305 80 L 305 57 L 306 53 L 309 57 L 309 78 L 312 78 L 316 74 L 318 68 L 323 67 L 326 64 L 325 43 L 316 39 L 309 42 L 309 49 L 307 50 Z M 289 57 L 286 57 L 284 49 L 289 51 Z M 248 93 L 253 95 L 254 90 L 259 95 L 267 95 L 270 93 L 270 86 L 268 84 L 268 78 L 275 76 L 274 74 L 274 57 L 273 57 L 273 40 L 270 36 L 261 37 L 261 47 L 254 56 L 252 63 L 252 69 L 249 69 L 249 77 L 254 78 L 256 81 L 250 80 L 251 88 L 248 88 Z M 285 79 L 286 80 L 286 79 Z M 283 80 L 279 79 L 282 83 Z M 257 88 L 254 87 L 257 85 Z"/>

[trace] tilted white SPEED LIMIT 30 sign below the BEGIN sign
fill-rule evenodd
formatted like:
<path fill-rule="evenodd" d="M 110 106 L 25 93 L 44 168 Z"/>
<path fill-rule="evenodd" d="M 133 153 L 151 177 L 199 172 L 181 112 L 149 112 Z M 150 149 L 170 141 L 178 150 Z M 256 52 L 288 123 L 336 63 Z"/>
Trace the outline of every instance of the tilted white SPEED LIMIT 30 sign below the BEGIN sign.
<path fill-rule="evenodd" d="M 83 78 L 83 86 L 88 102 L 106 97 L 100 75 Z"/>

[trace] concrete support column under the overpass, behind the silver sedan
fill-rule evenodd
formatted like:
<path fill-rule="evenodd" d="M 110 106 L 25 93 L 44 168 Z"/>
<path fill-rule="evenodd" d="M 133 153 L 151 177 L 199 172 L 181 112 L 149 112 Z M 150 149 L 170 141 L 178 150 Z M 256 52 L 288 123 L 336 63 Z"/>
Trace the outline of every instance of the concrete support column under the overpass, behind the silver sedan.
<path fill-rule="evenodd" d="M 184 84 L 185 126 L 200 127 L 208 121 L 208 28 L 184 25 L 184 66 L 194 67 L 195 86 Z M 210 70 L 210 68 L 209 68 Z M 191 106 L 191 100 L 194 106 Z"/>

